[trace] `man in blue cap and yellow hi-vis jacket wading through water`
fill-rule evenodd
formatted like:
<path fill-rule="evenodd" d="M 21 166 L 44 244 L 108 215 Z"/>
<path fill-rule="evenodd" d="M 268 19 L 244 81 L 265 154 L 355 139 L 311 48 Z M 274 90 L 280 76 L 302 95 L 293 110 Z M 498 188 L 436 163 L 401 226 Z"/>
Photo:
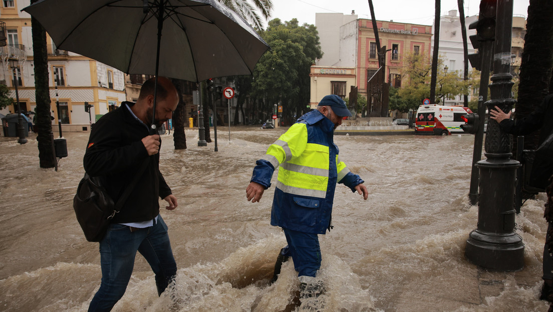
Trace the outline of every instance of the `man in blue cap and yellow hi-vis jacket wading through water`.
<path fill-rule="evenodd" d="M 271 185 L 273 172 L 280 166 L 271 224 L 283 228 L 288 242 L 279 259 L 292 257 L 303 285 L 311 283 L 321 266 L 317 235 L 331 229 L 336 183 L 357 191 L 365 200 L 368 197 L 364 181 L 340 161 L 333 142 L 334 130 L 347 116 L 351 113 L 340 96 L 322 98 L 316 110 L 301 116 L 255 162 L 257 166 L 246 188 L 248 201 L 259 202 Z M 277 262 L 275 278 L 279 271 Z"/>

